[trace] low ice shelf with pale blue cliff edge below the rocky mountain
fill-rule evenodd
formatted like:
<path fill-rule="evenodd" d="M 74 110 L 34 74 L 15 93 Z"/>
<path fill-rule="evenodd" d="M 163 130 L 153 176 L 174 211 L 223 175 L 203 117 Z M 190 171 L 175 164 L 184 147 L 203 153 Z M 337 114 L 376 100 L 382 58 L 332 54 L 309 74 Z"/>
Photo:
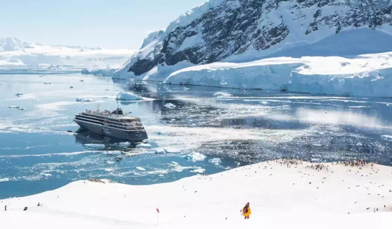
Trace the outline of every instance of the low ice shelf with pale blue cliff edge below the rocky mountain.
<path fill-rule="evenodd" d="M 392 97 L 392 52 L 344 57 L 274 57 L 212 63 L 172 73 L 165 84 Z"/>

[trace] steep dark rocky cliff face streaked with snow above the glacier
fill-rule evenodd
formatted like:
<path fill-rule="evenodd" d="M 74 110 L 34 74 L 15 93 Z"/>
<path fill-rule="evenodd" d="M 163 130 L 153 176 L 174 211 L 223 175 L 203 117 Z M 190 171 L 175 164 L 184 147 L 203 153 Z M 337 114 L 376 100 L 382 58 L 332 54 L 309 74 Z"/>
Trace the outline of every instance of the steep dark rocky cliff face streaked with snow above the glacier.
<path fill-rule="evenodd" d="M 260 59 L 342 30 L 367 27 L 392 32 L 391 4 L 383 0 L 210 0 L 172 22 L 165 32 L 152 34 L 153 41 L 143 44 L 114 78 L 143 78 L 179 63 Z M 171 73 L 163 72 L 166 75 L 156 79 Z"/>

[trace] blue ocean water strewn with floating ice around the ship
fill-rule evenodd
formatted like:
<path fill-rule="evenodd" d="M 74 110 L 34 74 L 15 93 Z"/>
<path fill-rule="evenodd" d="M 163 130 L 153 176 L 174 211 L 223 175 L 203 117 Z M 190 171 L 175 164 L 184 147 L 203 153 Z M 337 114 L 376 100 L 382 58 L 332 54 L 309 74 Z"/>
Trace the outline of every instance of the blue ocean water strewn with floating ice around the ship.
<path fill-rule="evenodd" d="M 82 74 L 0 75 L 0 84 L 0 199 L 90 177 L 126 184 L 170 182 L 282 156 L 392 162 L 390 98 L 163 85 Z M 113 97 L 119 91 L 144 99 L 117 102 Z M 168 109 L 167 103 L 176 107 Z M 120 106 L 142 118 L 152 147 L 121 147 L 123 140 L 67 133 L 78 130 L 72 121 L 76 113 L 97 105 Z M 89 149 L 83 146 L 87 143 L 105 144 L 105 149 Z M 163 147 L 181 153 L 154 153 Z M 119 162 L 105 154 L 118 150 L 128 155 Z M 192 152 L 195 157 L 187 156 Z"/>

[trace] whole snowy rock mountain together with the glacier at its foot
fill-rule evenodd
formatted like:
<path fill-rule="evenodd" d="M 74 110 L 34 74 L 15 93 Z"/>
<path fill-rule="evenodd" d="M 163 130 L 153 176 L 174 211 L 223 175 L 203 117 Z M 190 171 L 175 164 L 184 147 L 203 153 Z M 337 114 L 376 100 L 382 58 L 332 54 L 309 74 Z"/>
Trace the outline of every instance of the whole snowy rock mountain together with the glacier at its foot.
<path fill-rule="evenodd" d="M 383 0 L 210 0 L 151 33 L 113 78 L 391 97 L 391 9 Z"/>

